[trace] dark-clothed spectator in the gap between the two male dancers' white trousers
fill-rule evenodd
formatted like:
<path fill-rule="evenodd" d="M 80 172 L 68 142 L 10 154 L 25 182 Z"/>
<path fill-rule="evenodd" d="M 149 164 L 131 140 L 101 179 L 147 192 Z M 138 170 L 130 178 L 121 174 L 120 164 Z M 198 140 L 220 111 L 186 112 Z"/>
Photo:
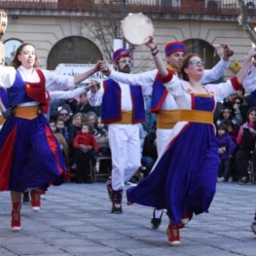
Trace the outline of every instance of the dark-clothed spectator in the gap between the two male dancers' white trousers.
<path fill-rule="evenodd" d="M 146 135 L 143 144 L 141 165 L 145 166 L 146 168 L 142 169 L 141 172 L 143 173 L 144 177 L 148 175 L 158 159 L 156 133 L 157 126 L 156 122 L 154 123 L 153 129 Z"/>

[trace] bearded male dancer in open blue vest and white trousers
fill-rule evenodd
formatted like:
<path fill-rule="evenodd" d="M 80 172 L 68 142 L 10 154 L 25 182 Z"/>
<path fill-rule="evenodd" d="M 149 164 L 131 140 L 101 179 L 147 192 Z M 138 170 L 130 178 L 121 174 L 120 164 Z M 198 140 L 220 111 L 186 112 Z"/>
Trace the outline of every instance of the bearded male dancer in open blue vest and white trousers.
<path fill-rule="evenodd" d="M 130 55 L 126 49 L 114 55 L 117 73 L 130 72 Z M 104 82 L 101 123 L 108 123 L 109 146 L 112 155 L 112 174 L 107 181 L 112 213 L 122 213 L 125 183 L 140 166 L 139 125 L 145 122 L 144 101 L 140 86 L 128 87 L 112 79 Z"/>

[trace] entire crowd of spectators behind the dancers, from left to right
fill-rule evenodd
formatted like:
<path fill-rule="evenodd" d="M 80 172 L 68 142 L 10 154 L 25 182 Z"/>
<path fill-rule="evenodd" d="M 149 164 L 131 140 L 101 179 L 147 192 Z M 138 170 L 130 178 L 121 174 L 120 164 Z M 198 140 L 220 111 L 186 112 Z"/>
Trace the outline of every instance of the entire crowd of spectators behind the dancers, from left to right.
<path fill-rule="evenodd" d="M 102 91 L 99 83 L 91 83 L 90 90 L 80 94 L 78 99 L 53 99 L 50 104 L 50 126 L 63 149 L 67 166 L 77 174 L 78 183 L 90 182 L 87 160 L 91 160 L 92 171 L 97 172 L 96 156 L 111 156 L 108 126 L 100 123 Z M 256 165 L 256 108 L 251 95 L 245 96 L 244 92 L 240 90 L 218 102 L 214 112 L 219 145 L 219 182 L 238 180 L 240 185 L 250 184 L 248 162 Z M 141 166 L 138 173 L 142 177 L 148 175 L 158 159 L 157 118 L 149 111 L 150 100 L 149 95 L 144 96 L 146 122 L 139 125 Z M 83 132 L 83 128 L 88 131 Z M 90 133 L 93 143 L 78 143 L 81 133 Z"/>

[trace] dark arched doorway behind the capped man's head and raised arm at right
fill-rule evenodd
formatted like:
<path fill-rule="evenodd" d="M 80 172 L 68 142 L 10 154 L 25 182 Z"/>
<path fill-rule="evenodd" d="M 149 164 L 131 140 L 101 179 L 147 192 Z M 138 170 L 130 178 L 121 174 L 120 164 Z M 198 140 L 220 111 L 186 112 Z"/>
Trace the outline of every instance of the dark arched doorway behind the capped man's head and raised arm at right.
<path fill-rule="evenodd" d="M 184 41 L 186 46 L 186 55 L 198 54 L 205 61 L 205 69 L 211 69 L 219 60 L 219 55 L 214 55 L 215 49 L 206 41 L 201 39 L 189 39 Z"/>

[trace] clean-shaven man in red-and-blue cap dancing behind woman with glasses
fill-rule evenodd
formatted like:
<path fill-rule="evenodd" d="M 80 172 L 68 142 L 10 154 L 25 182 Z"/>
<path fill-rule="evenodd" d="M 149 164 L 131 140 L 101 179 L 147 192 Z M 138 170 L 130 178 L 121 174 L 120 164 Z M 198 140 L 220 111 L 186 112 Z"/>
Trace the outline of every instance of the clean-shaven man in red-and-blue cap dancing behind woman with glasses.
<path fill-rule="evenodd" d="M 221 59 L 216 66 L 210 70 L 204 70 L 201 77 L 202 84 L 216 81 L 224 75 L 224 71 L 229 63 L 229 53 L 232 49 L 229 45 L 224 49 L 223 59 Z M 180 70 L 182 60 L 186 53 L 183 42 L 172 42 L 165 46 L 165 60 L 167 62 L 167 69 L 173 70 L 175 73 Z M 171 132 L 171 129 L 177 123 L 177 109 L 178 106 L 174 97 L 167 93 L 161 79 L 159 78 L 158 70 L 152 70 L 141 74 L 128 74 L 113 71 L 102 63 L 100 71 L 108 74 L 109 78 L 116 82 L 121 82 L 127 85 L 142 85 L 142 88 L 148 87 L 146 94 L 152 94 L 151 97 L 151 111 L 158 114 L 158 128 L 157 128 L 157 150 L 160 156 L 161 151 L 165 148 L 166 140 Z M 153 91 L 152 91 L 153 87 Z M 151 219 L 151 227 L 158 229 L 162 222 L 163 210 L 154 209 L 153 217 Z M 188 216 L 184 216 L 184 221 L 189 221 Z M 186 220 L 185 220 L 186 219 Z"/>

